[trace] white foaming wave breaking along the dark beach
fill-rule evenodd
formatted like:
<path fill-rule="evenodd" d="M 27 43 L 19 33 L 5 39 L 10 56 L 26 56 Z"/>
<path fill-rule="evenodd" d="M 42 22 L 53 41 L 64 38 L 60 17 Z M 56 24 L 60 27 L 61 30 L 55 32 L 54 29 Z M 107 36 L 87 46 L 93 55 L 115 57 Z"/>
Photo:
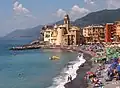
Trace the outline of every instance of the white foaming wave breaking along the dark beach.
<path fill-rule="evenodd" d="M 77 76 L 76 71 L 79 69 L 79 66 L 85 63 L 85 59 L 83 58 L 83 53 L 81 56 L 77 57 L 76 61 L 71 61 L 68 65 L 61 71 L 60 75 L 53 79 L 52 86 L 48 88 L 65 88 L 64 85 L 68 83 L 68 76 L 72 76 L 72 80 L 74 80 Z"/>

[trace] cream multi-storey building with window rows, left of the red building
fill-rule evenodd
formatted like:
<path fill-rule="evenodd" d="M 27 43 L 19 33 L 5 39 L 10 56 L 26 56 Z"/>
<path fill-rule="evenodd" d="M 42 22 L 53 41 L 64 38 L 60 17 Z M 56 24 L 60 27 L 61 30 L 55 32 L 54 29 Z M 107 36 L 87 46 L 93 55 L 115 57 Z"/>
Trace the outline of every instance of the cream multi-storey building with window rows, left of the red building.
<path fill-rule="evenodd" d="M 83 36 L 86 43 L 104 42 L 104 26 L 87 26 L 83 28 Z"/>

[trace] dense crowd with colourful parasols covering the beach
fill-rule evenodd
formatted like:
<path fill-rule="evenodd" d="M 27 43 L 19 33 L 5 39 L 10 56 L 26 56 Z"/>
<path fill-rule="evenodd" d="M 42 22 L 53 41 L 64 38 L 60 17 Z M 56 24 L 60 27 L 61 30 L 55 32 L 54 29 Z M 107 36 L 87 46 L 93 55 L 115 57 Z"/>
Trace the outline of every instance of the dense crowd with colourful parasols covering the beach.
<path fill-rule="evenodd" d="M 89 50 L 90 52 L 97 53 L 103 53 L 102 56 L 99 56 L 100 62 L 97 62 L 98 67 L 94 72 L 87 72 L 85 79 L 88 83 L 92 84 L 94 87 L 103 88 L 104 84 L 102 82 L 106 81 L 112 81 L 115 79 L 116 81 L 120 80 L 120 48 L 116 47 L 110 47 L 110 50 L 108 51 L 109 47 L 105 47 L 102 44 L 92 44 L 88 45 L 85 48 L 85 50 Z M 106 58 L 103 58 L 103 55 Z M 99 61 L 99 58 L 97 57 L 97 60 Z M 105 72 L 104 72 L 105 71 Z M 106 75 L 103 75 L 106 74 Z M 104 81 L 101 79 L 104 79 Z"/>

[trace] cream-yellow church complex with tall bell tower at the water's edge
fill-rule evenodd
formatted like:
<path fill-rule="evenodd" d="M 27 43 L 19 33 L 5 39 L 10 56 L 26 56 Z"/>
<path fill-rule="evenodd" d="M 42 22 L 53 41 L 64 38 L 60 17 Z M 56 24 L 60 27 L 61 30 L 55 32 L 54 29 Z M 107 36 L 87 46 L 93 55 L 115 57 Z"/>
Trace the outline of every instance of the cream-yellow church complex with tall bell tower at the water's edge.
<path fill-rule="evenodd" d="M 80 28 L 71 26 L 69 16 L 65 15 L 63 25 L 45 27 L 44 41 L 52 45 L 79 45 Z"/>

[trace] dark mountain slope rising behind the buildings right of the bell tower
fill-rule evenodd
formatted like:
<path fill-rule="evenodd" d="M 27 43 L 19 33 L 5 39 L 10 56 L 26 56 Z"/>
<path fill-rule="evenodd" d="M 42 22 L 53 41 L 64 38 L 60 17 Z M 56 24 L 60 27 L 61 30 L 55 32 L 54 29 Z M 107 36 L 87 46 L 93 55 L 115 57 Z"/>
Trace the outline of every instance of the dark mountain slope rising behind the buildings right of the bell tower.
<path fill-rule="evenodd" d="M 120 9 L 116 10 L 102 10 L 92 12 L 80 19 L 74 21 L 74 25 L 87 26 L 91 24 L 105 24 L 120 20 Z"/>

